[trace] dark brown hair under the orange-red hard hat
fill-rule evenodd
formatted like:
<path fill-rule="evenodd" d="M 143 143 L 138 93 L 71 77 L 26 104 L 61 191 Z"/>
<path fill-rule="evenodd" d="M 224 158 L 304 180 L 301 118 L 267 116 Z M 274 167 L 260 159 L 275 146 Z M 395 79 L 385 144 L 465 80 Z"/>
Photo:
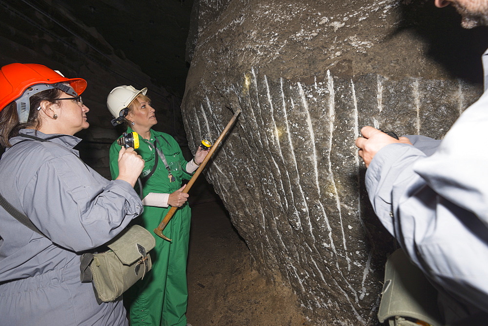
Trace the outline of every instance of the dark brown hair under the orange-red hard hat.
<path fill-rule="evenodd" d="M 17 114 L 17 104 L 11 102 L 0 111 L 0 144 L 3 147 L 12 146 L 9 143 L 10 138 L 17 136 L 20 129 L 32 128 L 39 130 L 41 120 L 39 119 L 39 110 L 37 109 L 42 101 L 58 103 L 61 96 L 61 90 L 57 88 L 46 89 L 45 91 L 34 94 L 30 97 L 30 110 L 27 122 L 19 123 Z"/>

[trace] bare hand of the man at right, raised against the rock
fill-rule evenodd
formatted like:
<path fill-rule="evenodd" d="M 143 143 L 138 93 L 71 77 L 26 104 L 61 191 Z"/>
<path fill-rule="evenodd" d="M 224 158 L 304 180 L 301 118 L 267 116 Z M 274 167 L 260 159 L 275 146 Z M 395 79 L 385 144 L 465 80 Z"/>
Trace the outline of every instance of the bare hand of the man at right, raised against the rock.
<path fill-rule="evenodd" d="M 396 140 L 386 135 L 383 131 L 369 126 L 363 127 L 361 134 L 363 137 L 356 139 L 356 146 L 359 147 L 358 154 L 365 161 L 366 167 L 369 166 L 376 153 L 386 145 L 394 143 L 412 144 L 407 137 L 400 137 L 399 140 Z"/>

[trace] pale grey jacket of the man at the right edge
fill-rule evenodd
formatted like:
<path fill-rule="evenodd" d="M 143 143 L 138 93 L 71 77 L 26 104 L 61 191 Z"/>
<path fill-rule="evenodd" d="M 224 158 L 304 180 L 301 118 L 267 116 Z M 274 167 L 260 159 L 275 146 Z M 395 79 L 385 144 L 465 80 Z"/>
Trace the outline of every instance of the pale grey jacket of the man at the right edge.
<path fill-rule="evenodd" d="M 442 141 L 387 145 L 366 171 L 378 218 L 450 297 L 447 322 L 488 314 L 488 51 L 483 63 L 485 93 Z"/>

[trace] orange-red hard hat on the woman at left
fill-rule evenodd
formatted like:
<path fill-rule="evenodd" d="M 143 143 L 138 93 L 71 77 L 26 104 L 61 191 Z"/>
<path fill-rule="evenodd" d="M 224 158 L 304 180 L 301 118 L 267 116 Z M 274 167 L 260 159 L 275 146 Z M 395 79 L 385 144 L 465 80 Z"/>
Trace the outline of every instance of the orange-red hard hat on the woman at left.
<path fill-rule="evenodd" d="M 0 111 L 18 99 L 27 87 L 36 84 L 67 82 L 80 95 L 86 88 L 81 78 L 65 78 L 60 73 L 35 63 L 11 63 L 0 69 Z"/>

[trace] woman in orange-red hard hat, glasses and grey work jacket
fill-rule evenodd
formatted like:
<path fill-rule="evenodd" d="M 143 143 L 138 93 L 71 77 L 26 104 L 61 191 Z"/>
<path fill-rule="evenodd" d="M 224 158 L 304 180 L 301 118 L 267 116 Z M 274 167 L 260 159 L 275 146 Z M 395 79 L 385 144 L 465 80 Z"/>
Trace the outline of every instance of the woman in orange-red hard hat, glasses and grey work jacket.
<path fill-rule="evenodd" d="M 38 64 L 0 70 L 0 193 L 45 237 L 0 207 L 0 325 L 127 325 L 122 299 L 97 304 L 80 281 L 80 255 L 142 212 L 133 189 L 144 161 L 119 153 L 107 181 L 78 157 L 73 135 L 88 127 L 82 79 Z"/>

